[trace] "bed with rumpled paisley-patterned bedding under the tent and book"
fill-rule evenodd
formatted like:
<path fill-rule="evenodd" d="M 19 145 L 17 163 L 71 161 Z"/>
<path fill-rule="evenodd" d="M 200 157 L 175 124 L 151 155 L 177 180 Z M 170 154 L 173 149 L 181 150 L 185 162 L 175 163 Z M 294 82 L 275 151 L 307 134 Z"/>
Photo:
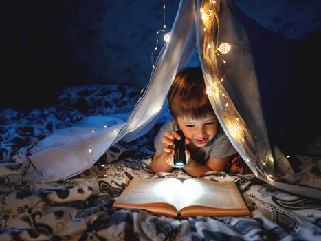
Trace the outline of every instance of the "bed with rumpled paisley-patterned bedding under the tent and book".
<path fill-rule="evenodd" d="M 0 240 L 320 240 L 321 202 L 265 184 L 238 156 L 228 171 L 201 178 L 235 182 L 252 217 L 169 218 L 113 208 L 135 176 L 190 178 L 180 170 L 151 171 L 153 138 L 162 122 L 137 140 L 113 145 L 72 178 L 20 182 L 21 163 L 12 159 L 19 149 L 88 116 L 128 113 L 139 94 L 130 85 L 81 85 L 56 94 L 50 107 L 0 112 Z"/>

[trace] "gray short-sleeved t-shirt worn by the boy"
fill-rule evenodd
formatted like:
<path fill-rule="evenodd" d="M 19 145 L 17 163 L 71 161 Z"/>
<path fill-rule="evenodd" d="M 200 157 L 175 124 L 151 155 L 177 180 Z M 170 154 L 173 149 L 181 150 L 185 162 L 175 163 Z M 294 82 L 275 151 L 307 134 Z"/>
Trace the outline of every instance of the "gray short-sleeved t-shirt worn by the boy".
<path fill-rule="evenodd" d="M 155 149 L 159 154 L 163 153 L 162 137 L 164 136 L 164 132 L 176 132 L 177 129 L 178 128 L 175 120 L 167 121 L 159 129 L 159 132 L 154 140 Z M 228 137 L 223 132 L 221 126 L 219 126 L 217 135 L 213 138 L 213 140 L 206 144 L 205 147 L 201 147 L 199 151 L 197 151 L 195 154 L 192 154 L 191 157 L 198 163 L 205 165 L 209 158 L 224 158 L 236 153 L 237 152 L 230 143 L 230 140 L 228 140 Z"/>

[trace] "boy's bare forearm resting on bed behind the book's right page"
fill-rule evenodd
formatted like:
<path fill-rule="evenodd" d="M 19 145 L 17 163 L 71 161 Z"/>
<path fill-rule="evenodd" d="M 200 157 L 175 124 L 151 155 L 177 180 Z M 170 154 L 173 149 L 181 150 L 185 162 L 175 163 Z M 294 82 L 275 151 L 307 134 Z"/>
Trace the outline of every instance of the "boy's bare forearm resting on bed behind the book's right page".
<path fill-rule="evenodd" d="M 229 160 L 230 156 L 219 159 L 210 158 L 206 162 L 206 165 L 201 165 L 190 158 L 188 164 L 184 167 L 184 170 L 191 176 L 199 178 L 208 171 L 224 171 Z"/>

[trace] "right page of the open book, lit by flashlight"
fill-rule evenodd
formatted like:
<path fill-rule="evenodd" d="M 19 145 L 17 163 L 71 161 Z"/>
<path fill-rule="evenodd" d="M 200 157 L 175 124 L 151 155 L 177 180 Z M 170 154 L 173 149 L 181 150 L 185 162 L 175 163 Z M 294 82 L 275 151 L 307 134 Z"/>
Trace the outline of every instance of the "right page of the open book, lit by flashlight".
<path fill-rule="evenodd" d="M 233 182 L 213 182 L 189 178 L 183 182 L 179 210 L 190 205 L 242 208 Z"/>

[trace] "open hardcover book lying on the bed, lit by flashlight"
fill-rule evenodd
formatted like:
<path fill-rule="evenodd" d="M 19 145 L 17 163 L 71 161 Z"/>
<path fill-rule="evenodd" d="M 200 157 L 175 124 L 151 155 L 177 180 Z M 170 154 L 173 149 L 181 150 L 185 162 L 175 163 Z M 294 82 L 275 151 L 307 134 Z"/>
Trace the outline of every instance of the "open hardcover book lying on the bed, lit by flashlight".
<path fill-rule="evenodd" d="M 250 216 L 234 182 L 199 178 L 135 177 L 113 207 L 145 209 L 167 216 Z"/>

